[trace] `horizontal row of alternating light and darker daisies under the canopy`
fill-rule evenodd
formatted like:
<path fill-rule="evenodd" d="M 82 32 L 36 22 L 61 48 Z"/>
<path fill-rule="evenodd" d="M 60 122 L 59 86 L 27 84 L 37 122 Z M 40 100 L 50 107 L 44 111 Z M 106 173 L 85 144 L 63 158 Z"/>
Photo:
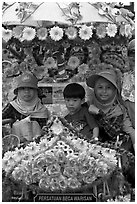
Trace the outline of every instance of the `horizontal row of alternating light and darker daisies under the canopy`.
<path fill-rule="evenodd" d="M 134 34 L 134 28 L 130 24 L 121 24 L 117 26 L 114 23 L 100 23 L 98 25 L 90 25 L 87 26 L 68 26 L 68 28 L 62 28 L 61 26 L 54 26 L 52 28 L 31 28 L 24 26 L 24 29 L 21 29 L 21 26 L 16 26 L 11 29 L 3 28 L 2 38 L 4 41 L 9 41 L 12 37 L 18 38 L 21 42 L 24 40 L 31 41 L 35 38 L 38 38 L 40 41 L 47 40 L 50 38 L 53 41 L 60 41 L 66 35 L 68 39 L 75 40 L 77 37 L 80 39 L 87 41 L 92 39 L 93 30 L 96 31 L 96 36 L 99 38 L 105 38 L 106 35 L 108 37 L 115 37 L 118 34 L 121 36 L 125 36 L 127 38 L 131 38 Z M 8 38 L 7 38 L 8 36 Z"/>

